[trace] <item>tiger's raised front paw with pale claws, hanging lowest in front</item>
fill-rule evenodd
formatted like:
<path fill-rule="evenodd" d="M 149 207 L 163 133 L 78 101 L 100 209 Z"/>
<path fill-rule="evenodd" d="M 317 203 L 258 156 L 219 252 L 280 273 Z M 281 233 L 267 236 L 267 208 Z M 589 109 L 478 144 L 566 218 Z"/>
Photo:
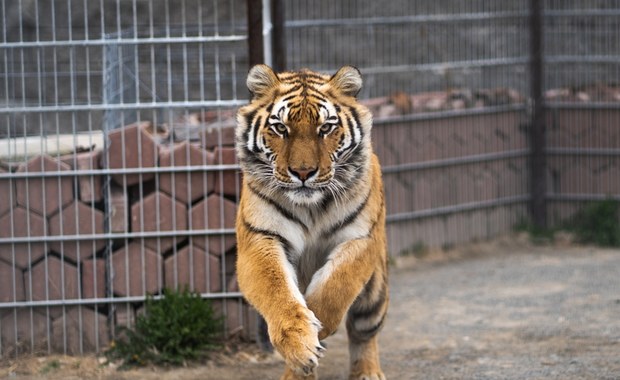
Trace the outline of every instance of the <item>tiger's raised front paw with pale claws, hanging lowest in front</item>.
<path fill-rule="evenodd" d="M 319 342 L 321 322 L 306 309 L 293 320 L 282 321 L 279 328 L 270 327 L 271 343 L 296 374 L 309 376 L 319 365 L 325 348 Z"/>

